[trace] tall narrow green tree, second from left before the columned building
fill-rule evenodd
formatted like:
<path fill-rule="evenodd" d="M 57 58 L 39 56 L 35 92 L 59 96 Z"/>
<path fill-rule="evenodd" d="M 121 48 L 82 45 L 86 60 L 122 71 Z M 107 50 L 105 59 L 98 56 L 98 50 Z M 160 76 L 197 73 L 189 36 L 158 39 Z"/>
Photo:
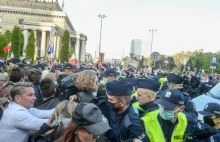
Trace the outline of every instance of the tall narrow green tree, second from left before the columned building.
<path fill-rule="evenodd" d="M 14 27 L 11 36 L 11 50 L 10 53 L 13 52 L 15 58 L 20 58 L 21 52 L 21 38 L 20 38 L 20 28 Z"/>

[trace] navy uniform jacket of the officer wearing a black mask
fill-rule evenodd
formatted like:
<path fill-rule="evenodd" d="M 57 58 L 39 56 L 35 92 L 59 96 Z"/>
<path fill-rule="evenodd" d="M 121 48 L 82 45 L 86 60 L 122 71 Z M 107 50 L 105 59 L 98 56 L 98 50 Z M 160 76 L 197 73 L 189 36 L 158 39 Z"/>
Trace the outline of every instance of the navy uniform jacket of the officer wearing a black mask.
<path fill-rule="evenodd" d="M 108 119 L 109 126 L 112 128 L 106 133 L 106 137 L 110 141 L 122 142 L 134 138 L 139 138 L 143 142 L 147 140 L 144 127 L 132 107 L 129 106 L 122 114 L 118 115 L 105 100 L 99 101 L 97 106 Z"/>

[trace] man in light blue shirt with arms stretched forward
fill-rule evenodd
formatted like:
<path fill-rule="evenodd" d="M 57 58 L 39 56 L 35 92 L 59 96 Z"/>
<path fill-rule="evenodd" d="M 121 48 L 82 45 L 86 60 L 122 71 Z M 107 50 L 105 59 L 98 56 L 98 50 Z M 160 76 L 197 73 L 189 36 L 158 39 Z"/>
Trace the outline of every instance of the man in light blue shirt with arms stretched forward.
<path fill-rule="evenodd" d="M 36 97 L 31 83 L 18 83 L 11 90 L 12 103 L 3 112 L 0 121 L 1 142 L 27 142 L 30 130 L 39 130 L 48 122 L 53 110 L 32 108 Z"/>

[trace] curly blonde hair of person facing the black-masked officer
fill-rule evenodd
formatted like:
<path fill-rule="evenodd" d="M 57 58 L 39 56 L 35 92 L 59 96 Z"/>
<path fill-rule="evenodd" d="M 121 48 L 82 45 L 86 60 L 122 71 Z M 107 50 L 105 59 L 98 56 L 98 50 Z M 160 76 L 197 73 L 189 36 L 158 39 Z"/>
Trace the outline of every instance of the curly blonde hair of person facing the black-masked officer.
<path fill-rule="evenodd" d="M 96 72 L 93 70 L 82 71 L 75 74 L 75 85 L 79 90 L 97 91 L 99 84 Z"/>

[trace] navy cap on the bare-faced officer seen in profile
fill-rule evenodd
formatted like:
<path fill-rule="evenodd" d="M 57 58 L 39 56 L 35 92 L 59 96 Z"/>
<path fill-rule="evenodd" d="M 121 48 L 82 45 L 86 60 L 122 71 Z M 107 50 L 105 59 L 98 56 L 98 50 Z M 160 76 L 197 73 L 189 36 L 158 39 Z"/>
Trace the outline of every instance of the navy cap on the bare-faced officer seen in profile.
<path fill-rule="evenodd" d="M 160 88 L 160 82 L 154 79 L 138 79 L 137 88 L 144 88 L 157 92 Z"/>

